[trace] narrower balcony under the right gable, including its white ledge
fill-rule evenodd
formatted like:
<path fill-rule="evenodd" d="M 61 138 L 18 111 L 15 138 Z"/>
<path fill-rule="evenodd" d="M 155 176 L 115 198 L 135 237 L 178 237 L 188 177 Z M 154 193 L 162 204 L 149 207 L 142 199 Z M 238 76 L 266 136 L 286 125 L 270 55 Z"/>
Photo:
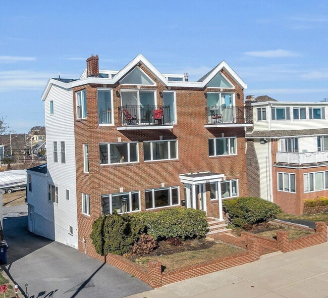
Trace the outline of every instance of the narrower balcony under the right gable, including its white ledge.
<path fill-rule="evenodd" d="M 206 107 L 205 127 L 252 126 L 251 122 L 245 121 L 245 109 L 249 108 L 225 105 Z"/>

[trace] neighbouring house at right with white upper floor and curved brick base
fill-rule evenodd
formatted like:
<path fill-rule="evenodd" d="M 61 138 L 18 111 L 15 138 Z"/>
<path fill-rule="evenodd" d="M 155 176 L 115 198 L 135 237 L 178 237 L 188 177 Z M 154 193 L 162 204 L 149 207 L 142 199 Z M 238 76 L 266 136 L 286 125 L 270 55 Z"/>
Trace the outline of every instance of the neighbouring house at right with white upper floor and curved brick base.
<path fill-rule="evenodd" d="M 303 213 L 303 200 L 328 196 L 328 103 L 246 96 L 248 194 Z"/>

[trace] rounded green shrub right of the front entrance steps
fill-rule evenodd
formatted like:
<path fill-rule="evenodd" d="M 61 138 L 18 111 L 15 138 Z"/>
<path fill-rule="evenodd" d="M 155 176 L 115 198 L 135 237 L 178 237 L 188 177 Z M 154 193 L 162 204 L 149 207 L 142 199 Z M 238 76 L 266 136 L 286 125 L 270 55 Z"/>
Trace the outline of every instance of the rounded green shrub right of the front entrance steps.
<path fill-rule="evenodd" d="M 274 219 L 281 212 L 278 205 L 259 197 L 237 197 L 223 201 L 223 208 L 230 220 L 238 226 Z"/>

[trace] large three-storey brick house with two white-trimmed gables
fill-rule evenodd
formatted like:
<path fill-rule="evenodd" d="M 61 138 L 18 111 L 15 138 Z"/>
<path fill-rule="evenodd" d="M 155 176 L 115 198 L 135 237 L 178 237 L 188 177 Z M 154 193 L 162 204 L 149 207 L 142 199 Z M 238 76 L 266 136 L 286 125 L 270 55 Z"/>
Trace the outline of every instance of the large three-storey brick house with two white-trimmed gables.
<path fill-rule="evenodd" d="M 61 221 L 56 240 L 95 256 L 92 223 L 114 210 L 186 206 L 222 221 L 222 199 L 247 195 L 245 88 L 225 61 L 192 82 L 142 55 L 121 71 L 99 70 L 92 56 L 78 80 L 49 79 L 39 200 L 55 214 L 49 224 Z"/>

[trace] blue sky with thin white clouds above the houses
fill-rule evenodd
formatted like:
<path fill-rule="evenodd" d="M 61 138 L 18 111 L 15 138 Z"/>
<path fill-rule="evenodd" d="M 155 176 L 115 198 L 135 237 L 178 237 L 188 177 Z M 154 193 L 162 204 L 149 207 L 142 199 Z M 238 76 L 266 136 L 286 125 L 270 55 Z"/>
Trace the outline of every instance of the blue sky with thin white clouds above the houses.
<path fill-rule="evenodd" d="M 91 54 L 120 70 L 139 53 L 198 80 L 225 60 L 245 95 L 328 97 L 326 1 L 10 1 L 0 17 L 0 115 L 12 131 L 44 125 L 49 77 L 78 78 Z"/>

